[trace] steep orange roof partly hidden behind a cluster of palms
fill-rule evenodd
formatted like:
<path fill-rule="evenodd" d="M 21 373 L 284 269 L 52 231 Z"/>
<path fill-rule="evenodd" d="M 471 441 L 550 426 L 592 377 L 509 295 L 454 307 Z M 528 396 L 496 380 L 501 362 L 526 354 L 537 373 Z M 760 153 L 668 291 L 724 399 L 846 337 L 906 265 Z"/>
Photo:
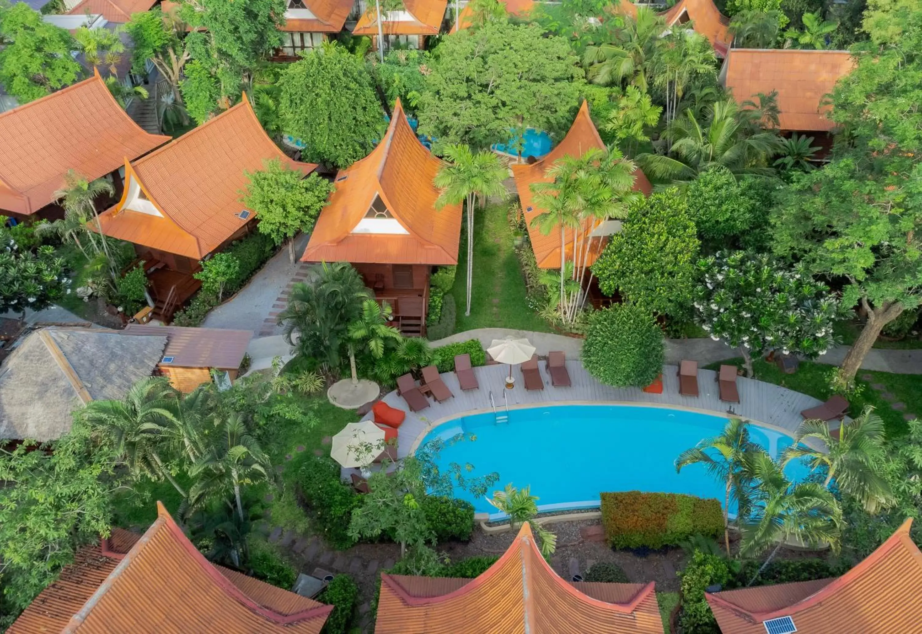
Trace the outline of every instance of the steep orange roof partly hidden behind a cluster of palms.
<path fill-rule="evenodd" d="M 535 203 L 535 194 L 531 191 L 531 184 L 533 182 L 550 182 L 550 179 L 545 176 L 545 172 L 553 165 L 554 161 L 567 155 L 581 157 L 590 147 L 597 147 L 601 150 L 606 149 L 605 144 L 602 143 L 602 139 L 598 135 L 596 124 L 592 123 L 592 118 L 589 116 L 589 106 L 584 100 L 579 112 L 576 113 L 576 118 L 573 119 L 573 125 L 570 126 L 567 135 L 563 137 L 563 140 L 556 147 L 550 150 L 547 156 L 531 165 L 512 166 L 515 189 L 518 190 L 519 200 L 525 213 L 528 238 L 531 240 L 531 247 L 535 251 L 535 259 L 538 261 L 538 267 L 540 268 L 561 267 L 561 236 L 560 229 L 557 228 L 551 229 L 547 235 L 541 233 L 541 230 L 538 229 L 535 218 L 544 213 L 544 210 Z M 634 170 L 633 175 L 633 190 L 635 192 L 650 194 L 653 191 L 653 186 L 646 179 L 644 172 L 640 168 Z M 580 229 L 581 235 L 585 236 L 593 229 L 596 229 L 596 225 L 597 223 L 585 220 Z M 568 259 L 573 251 L 572 240 L 573 233 L 571 231 L 567 235 L 566 257 Z M 596 261 L 599 252 L 602 250 L 603 243 L 604 241 L 601 240 L 593 241 L 592 249 L 587 258 L 587 265 Z"/>

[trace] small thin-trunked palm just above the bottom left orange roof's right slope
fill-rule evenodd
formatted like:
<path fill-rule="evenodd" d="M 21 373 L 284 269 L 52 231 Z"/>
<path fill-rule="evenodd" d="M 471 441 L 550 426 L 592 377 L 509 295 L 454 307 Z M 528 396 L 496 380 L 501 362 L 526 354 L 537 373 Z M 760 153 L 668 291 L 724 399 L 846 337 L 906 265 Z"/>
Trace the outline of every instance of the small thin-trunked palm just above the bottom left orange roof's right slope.
<path fill-rule="evenodd" d="M 246 429 L 243 415 L 233 412 L 218 422 L 213 444 L 189 470 L 195 477 L 189 489 L 189 510 L 202 508 L 209 499 L 227 499 L 232 492 L 242 522 L 241 487 L 270 480 L 271 470 L 268 456 Z"/>

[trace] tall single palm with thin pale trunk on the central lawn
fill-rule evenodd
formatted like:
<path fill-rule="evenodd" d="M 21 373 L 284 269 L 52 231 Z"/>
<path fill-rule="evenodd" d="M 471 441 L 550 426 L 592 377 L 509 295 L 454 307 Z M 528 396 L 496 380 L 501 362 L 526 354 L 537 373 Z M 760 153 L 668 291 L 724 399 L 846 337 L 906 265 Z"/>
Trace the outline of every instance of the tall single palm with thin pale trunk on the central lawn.
<path fill-rule="evenodd" d="M 448 160 L 435 175 L 434 183 L 439 188 L 435 208 L 444 205 L 467 204 L 467 308 L 470 315 L 470 289 L 474 280 L 474 207 L 477 196 L 484 201 L 490 197 L 505 198 L 506 189 L 502 182 L 509 176 L 509 169 L 497 154 L 489 150 L 472 152 L 467 146 L 445 148 Z"/>

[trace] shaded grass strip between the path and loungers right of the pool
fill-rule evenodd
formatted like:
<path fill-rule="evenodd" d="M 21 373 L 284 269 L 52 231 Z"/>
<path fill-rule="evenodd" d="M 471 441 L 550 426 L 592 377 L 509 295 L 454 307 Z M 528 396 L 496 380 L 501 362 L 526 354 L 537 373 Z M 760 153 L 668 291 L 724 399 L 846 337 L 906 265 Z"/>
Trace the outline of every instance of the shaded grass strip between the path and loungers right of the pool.
<path fill-rule="evenodd" d="M 743 359 L 731 358 L 726 361 L 712 363 L 705 366 L 705 368 L 707 370 L 717 370 L 721 363 L 729 363 L 742 368 Z M 755 371 L 755 378 L 760 381 L 783 385 L 795 392 L 810 394 L 810 396 L 822 401 L 832 395 L 829 389 L 829 376 L 830 372 L 834 370 L 834 366 L 801 361 L 797 372 L 784 374 L 781 370 L 778 370 L 774 363 L 768 363 L 760 358 L 752 361 L 752 370 Z M 863 381 L 860 377 L 865 374 L 873 377 L 872 380 L 869 382 Z M 859 370 L 857 382 L 863 389 L 857 398 L 850 399 L 849 416 L 856 417 L 866 405 L 873 405 L 878 415 L 883 418 L 883 423 L 889 436 L 901 436 L 908 429 L 903 417 L 905 412 L 898 412 L 893 409 L 887 401 L 881 398 L 880 393 L 871 388 L 870 383 L 884 385 L 886 392 L 893 393 L 897 401 L 906 404 L 906 412 L 922 415 L 922 376 Z"/>

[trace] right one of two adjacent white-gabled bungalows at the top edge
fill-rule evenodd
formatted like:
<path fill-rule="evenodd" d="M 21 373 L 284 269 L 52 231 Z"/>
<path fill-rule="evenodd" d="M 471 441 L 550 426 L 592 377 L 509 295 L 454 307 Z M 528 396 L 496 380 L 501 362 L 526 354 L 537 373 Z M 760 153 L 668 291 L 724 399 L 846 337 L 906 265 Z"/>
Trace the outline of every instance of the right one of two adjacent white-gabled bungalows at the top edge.
<path fill-rule="evenodd" d="M 384 52 L 396 44 L 410 49 L 426 48 L 426 38 L 438 35 L 442 29 L 447 6 L 448 0 L 404 0 L 403 10 L 384 14 L 381 25 Z M 378 17 L 373 10 L 361 15 L 352 35 L 367 35 L 372 39 L 372 50 L 378 50 Z"/>

